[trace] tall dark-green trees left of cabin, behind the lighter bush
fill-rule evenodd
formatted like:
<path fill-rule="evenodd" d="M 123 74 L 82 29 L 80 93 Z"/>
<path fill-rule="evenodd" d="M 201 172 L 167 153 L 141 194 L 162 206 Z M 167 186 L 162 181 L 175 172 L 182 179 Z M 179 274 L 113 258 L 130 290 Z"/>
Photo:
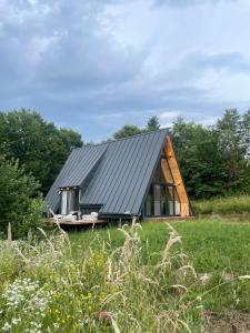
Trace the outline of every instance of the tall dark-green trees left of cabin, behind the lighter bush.
<path fill-rule="evenodd" d="M 0 151 L 8 159 L 19 159 L 47 193 L 72 147 L 81 147 L 81 135 L 58 129 L 37 112 L 0 112 Z"/>

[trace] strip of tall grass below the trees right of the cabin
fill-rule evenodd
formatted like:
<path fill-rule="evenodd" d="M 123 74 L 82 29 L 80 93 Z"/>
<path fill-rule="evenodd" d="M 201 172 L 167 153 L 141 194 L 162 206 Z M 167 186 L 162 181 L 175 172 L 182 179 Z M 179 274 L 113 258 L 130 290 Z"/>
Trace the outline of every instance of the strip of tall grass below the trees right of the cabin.
<path fill-rule="evenodd" d="M 192 202 L 194 214 L 250 213 L 250 195 L 217 198 Z"/>

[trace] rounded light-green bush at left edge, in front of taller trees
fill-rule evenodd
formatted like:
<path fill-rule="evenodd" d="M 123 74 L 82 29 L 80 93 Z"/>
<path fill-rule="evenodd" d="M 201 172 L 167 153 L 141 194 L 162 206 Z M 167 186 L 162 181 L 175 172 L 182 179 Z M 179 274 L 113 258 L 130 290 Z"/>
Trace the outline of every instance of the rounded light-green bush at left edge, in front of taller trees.
<path fill-rule="evenodd" d="M 26 174 L 18 161 L 8 161 L 0 155 L 0 234 L 6 233 L 8 223 L 11 223 L 14 236 L 26 235 L 41 219 L 39 183 Z"/>

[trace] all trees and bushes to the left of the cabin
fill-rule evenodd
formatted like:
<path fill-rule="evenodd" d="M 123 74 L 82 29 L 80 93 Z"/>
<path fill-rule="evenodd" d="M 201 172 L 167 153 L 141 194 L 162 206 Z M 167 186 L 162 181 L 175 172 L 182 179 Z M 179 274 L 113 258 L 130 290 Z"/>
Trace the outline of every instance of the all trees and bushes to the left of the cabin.
<path fill-rule="evenodd" d="M 0 235 L 12 223 L 13 236 L 41 221 L 47 193 L 81 135 L 59 129 L 38 112 L 0 112 Z"/>

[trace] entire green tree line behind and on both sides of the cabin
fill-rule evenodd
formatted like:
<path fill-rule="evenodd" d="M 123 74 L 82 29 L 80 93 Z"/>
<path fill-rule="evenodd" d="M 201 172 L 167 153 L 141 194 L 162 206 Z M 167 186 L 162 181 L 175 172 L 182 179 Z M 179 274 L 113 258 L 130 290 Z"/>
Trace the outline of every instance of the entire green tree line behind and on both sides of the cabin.
<path fill-rule="evenodd" d="M 144 128 L 124 124 L 111 140 L 158 129 L 154 115 Z M 178 118 L 169 132 L 191 199 L 250 192 L 250 111 L 226 110 L 211 127 Z M 81 134 L 38 112 L 0 112 L 0 233 L 14 221 L 22 234 L 39 220 L 42 195 L 71 149 L 83 144 Z"/>

